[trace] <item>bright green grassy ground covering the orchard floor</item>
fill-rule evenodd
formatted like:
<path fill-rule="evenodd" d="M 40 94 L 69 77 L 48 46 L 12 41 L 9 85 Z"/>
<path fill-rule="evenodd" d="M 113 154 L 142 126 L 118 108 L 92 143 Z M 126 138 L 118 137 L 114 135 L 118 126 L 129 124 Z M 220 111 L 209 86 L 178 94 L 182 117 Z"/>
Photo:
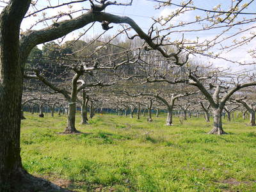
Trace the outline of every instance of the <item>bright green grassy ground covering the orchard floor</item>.
<path fill-rule="evenodd" d="M 65 116 L 25 113 L 21 156 L 33 175 L 73 191 L 256 191 L 256 128 L 224 120 L 229 134 L 205 134 L 212 122 L 188 118 L 97 115 L 84 134 L 63 135 Z M 77 115 L 77 122 L 80 121 Z"/>

